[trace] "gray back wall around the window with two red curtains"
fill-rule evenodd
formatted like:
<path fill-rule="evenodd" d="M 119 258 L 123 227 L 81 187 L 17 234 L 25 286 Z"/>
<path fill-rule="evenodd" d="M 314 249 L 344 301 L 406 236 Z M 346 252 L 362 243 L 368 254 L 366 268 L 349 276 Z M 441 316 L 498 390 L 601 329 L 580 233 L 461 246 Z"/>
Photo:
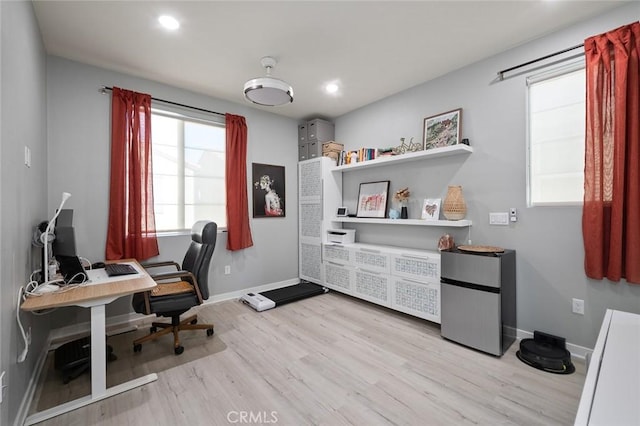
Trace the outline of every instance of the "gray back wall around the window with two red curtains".
<path fill-rule="evenodd" d="M 47 58 L 48 206 L 53 211 L 60 204 L 63 191 L 72 194 L 65 207 L 74 209 L 81 256 L 94 262 L 104 259 L 111 96 L 98 93 L 102 86 L 118 86 L 149 93 L 159 99 L 244 116 L 248 127 L 249 174 L 252 162 L 285 166 L 286 217 L 251 219 L 254 246 L 246 250 L 227 251 L 226 233 L 220 233 L 209 275 L 210 293 L 215 296 L 298 276 L 297 121 L 245 104 L 216 100 L 50 56 Z M 251 176 L 247 187 L 251 208 L 250 180 Z M 181 261 L 188 242 L 189 236 L 184 235 L 161 237 L 158 260 Z M 274 250 L 274 242 L 277 242 L 277 250 Z M 224 265 L 231 266 L 231 275 L 224 275 Z M 130 311 L 129 304 L 129 298 L 121 298 L 107 305 L 107 316 L 126 314 Z M 76 321 L 88 318 L 84 310 L 75 312 Z M 70 313 L 65 312 L 64 318 L 55 318 L 54 325 L 68 325 L 73 321 Z"/>

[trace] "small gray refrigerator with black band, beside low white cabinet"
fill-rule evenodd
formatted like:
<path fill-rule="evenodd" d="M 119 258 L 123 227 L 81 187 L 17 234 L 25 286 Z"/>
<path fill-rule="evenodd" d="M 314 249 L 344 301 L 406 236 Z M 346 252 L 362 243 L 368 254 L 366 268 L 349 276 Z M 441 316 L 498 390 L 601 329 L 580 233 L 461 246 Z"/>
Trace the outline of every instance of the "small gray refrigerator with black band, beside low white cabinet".
<path fill-rule="evenodd" d="M 441 253 L 442 337 L 496 356 L 516 339 L 516 253 Z"/>

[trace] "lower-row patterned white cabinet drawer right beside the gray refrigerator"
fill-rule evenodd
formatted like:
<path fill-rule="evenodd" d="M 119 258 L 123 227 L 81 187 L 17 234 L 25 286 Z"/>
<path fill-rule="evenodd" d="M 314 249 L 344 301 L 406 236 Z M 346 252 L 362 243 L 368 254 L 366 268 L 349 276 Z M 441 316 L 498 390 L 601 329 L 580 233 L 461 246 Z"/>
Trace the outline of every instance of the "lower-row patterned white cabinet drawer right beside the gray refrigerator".
<path fill-rule="evenodd" d="M 393 277 L 391 308 L 440 324 L 440 283 Z"/>

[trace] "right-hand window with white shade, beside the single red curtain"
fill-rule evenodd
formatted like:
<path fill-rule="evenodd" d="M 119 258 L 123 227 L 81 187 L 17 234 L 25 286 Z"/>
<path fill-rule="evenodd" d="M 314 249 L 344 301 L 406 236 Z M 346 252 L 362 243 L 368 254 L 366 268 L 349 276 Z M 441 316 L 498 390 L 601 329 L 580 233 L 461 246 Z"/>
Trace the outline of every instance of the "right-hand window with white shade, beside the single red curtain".
<path fill-rule="evenodd" d="M 584 61 L 527 79 L 529 206 L 578 205 L 584 195 Z"/>

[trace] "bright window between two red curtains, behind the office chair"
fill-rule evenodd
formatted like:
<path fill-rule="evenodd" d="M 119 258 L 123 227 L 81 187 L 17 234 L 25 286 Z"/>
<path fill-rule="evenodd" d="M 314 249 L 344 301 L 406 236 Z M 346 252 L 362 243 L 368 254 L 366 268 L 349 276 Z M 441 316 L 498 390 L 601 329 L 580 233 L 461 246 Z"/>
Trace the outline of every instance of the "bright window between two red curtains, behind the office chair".
<path fill-rule="evenodd" d="M 151 128 L 156 229 L 226 227 L 224 124 L 154 109 Z"/>

